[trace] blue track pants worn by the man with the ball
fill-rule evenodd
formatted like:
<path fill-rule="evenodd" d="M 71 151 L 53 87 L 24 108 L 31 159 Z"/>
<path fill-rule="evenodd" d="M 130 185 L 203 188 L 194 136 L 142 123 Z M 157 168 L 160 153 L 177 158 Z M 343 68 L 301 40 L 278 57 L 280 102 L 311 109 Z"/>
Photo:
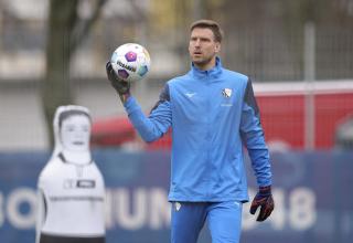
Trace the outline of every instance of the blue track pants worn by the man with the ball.
<path fill-rule="evenodd" d="M 240 202 L 173 202 L 172 243 L 196 243 L 205 222 L 212 243 L 238 243 L 242 225 Z"/>

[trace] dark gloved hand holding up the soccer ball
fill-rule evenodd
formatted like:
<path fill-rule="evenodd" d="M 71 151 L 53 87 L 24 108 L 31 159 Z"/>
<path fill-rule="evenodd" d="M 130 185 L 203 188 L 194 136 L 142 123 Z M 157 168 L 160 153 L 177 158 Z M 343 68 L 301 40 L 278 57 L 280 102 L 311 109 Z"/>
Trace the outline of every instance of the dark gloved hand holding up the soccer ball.
<path fill-rule="evenodd" d="M 117 91 L 122 103 L 130 96 L 130 83 L 118 77 L 114 71 L 110 61 L 106 64 L 108 80 L 111 86 Z"/>

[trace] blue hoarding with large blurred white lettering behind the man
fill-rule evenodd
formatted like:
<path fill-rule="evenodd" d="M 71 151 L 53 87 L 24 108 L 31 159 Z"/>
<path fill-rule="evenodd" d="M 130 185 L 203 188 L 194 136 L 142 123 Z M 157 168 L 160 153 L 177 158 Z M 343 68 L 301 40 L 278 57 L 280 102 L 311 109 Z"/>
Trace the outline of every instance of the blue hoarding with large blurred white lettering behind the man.
<path fill-rule="evenodd" d="M 47 152 L 0 152 L 1 243 L 34 242 L 35 186 Z M 95 150 L 104 175 L 107 243 L 169 242 L 169 152 Z M 244 207 L 242 242 L 349 243 L 353 239 L 353 152 L 272 154 L 271 218 L 258 223 Z M 250 198 L 255 178 L 246 161 Z M 210 243 L 206 228 L 200 243 Z"/>

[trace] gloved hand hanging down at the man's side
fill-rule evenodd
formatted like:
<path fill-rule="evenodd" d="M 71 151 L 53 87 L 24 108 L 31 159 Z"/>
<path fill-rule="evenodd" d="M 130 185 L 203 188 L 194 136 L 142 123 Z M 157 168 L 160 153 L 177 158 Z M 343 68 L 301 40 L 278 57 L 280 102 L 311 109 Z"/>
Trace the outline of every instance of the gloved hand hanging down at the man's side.
<path fill-rule="evenodd" d="M 271 186 L 259 188 L 259 191 L 257 192 L 252 202 L 250 213 L 255 214 L 258 207 L 260 207 L 260 212 L 256 221 L 266 220 L 274 211 L 275 202 L 272 199 Z"/>

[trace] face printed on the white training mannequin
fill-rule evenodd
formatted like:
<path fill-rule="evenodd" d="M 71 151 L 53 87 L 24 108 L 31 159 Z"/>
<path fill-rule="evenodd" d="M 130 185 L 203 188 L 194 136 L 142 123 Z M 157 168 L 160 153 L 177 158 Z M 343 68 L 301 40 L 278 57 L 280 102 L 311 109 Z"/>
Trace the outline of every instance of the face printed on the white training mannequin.
<path fill-rule="evenodd" d="M 85 115 L 72 115 L 63 120 L 60 130 L 64 149 L 85 151 L 89 148 L 90 123 Z"/>

